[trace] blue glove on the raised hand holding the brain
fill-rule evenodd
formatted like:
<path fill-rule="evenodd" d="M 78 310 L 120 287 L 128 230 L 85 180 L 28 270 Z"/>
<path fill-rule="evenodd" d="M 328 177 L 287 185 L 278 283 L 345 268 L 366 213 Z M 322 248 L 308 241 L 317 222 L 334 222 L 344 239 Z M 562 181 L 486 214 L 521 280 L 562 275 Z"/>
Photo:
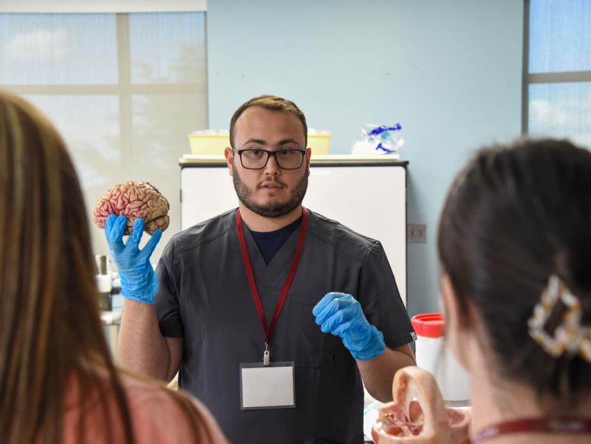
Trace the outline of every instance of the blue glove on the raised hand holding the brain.
<path fill-rule="evenodd" d="M 139 244 L 144 230 L 144 220 L 136 219 L 133 230 L 123 244 L 123 230 L 127 224 L 127 217 L 111 214 L 105 221 L 105 235 L 111 257 L 117 264 L 121 276 L 121 294 L 127 299 L 145 303 L 154 303 L 158 290 L 158 277 L 154 273 L 149 257 L 154 252 L 156 244 L 162 236 L 161 230 L 154 231 L 143 250 Z"/>

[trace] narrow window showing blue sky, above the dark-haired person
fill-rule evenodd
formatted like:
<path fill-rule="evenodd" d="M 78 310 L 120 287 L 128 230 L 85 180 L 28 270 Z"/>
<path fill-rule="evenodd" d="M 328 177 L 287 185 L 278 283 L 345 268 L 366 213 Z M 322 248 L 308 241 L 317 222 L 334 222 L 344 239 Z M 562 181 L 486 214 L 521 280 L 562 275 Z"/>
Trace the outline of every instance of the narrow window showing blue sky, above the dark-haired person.
<path fill-rule="evenodd" d="M 591 148 L 591 2 L 526 0 L 524 133 Z"/>

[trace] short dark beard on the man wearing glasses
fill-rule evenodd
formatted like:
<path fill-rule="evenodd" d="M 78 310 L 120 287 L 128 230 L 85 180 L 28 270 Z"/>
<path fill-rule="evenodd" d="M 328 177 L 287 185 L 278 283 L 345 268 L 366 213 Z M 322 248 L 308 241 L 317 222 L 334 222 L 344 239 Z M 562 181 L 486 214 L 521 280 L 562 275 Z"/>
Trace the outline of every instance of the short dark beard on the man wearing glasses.
<path fill-rule="evenodd" d="M 306 190 L 308 189 L 309 167 L 306 166 L 304 177 L 295 185 L 286 202 L 275 202 L 273 199 L 270 199 L 268 203 L 259 204 L 252 198 L 253 191 L 242 181 L 238 171 L 236 171 L 236 166 L 232 166 L 232 170 L 232 181 L 234 182 L 234 189 L 238 195 L 238 200 L 250 209 L 250 211 L 259 214 L 259 216 L 280 217 L 289 214 L 302 203 L 306 195 Z M 275 180 L 275 182 L 285 187 L 283 182 L 279 180 Z"/>

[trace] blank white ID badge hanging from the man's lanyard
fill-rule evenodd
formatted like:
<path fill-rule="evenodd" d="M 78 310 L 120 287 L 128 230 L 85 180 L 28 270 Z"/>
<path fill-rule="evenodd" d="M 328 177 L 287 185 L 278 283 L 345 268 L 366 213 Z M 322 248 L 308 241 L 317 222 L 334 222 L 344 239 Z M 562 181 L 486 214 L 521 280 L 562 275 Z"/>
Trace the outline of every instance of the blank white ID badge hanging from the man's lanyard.
<path fill-rule="evenodd" d="M 295 407 L 293 361 L 240 364 L 240 408 L 290 409 Z"/>

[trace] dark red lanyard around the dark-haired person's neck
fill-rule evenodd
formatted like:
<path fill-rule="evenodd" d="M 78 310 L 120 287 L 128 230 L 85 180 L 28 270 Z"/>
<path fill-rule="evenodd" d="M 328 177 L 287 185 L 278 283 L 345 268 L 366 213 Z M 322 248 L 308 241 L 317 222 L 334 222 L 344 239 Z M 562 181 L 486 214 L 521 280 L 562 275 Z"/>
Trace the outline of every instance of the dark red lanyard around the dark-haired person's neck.
<path fill-rule="evenodd" d="M 591 434 L 591 420 L 587 418 L 527 418 L 500 422 L 480 430 L 471 438 L 470 443 L 479 444 L 495 436 L 526 432 L 566 435 Z"/>

